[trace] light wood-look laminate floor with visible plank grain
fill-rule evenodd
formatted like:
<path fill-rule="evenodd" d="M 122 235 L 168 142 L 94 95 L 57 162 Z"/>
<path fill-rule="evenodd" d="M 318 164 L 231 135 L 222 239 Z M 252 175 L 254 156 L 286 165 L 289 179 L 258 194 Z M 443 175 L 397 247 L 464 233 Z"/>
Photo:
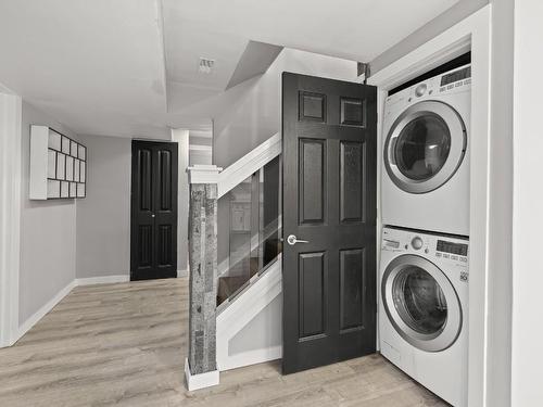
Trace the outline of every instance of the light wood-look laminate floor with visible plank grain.
<path fill-rule="evenodd" d="M 281 376 L 280 364 L 188 392 L 187 279 L 76 288 L 0 349 L 0 406 L 446 406 L 382 357 Z"/>

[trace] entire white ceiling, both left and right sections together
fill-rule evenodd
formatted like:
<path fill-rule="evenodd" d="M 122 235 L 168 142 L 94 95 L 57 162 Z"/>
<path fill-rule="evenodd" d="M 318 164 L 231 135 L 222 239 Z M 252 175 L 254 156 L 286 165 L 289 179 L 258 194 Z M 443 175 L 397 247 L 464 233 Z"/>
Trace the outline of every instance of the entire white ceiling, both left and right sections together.
<path fill-rule="evenodd" d="M 167 138 L 250 40 L 370 61 L 457 1 L 0 0 L 0 84 L 79 133 Z"/>

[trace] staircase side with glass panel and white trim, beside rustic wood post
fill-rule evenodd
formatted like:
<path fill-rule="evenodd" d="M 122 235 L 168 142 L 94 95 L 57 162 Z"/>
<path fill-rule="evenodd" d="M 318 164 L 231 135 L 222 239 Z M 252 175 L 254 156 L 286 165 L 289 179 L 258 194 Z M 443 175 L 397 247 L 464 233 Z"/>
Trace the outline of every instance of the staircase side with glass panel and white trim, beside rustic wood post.
<path fill-rule="evenodd" d="M 276 133 L 218 174 L 219 214 L 228 245 L 217 279 L 217 369 L 280 358 L 281 135 Z"/>

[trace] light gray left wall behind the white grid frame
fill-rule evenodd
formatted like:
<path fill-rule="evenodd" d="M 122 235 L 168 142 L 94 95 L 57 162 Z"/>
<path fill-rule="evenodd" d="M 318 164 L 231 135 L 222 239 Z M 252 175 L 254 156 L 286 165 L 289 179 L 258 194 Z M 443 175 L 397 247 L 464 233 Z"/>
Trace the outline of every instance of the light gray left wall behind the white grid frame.
<path fill-rule="evenodd" d="M 30 201 L 30 125 L 43 125 L 73 138 L 77 135 L 23 101 L 21 188 L 20 325 L 75 278 L 76 202 Z"/>

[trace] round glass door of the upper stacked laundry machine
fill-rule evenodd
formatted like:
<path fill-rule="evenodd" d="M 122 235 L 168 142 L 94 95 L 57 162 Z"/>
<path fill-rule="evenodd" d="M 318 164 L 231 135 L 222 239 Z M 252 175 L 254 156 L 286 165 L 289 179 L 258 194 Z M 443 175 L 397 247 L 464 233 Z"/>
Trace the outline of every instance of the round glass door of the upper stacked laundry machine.
<path fill-rule="evenodd" d="M 449 104 L 418 102 L 392 125 L 384 165 L 392 181 L 409 193 L 426 193 L 445 183 L 466 152 L 466 126 Z"/>

